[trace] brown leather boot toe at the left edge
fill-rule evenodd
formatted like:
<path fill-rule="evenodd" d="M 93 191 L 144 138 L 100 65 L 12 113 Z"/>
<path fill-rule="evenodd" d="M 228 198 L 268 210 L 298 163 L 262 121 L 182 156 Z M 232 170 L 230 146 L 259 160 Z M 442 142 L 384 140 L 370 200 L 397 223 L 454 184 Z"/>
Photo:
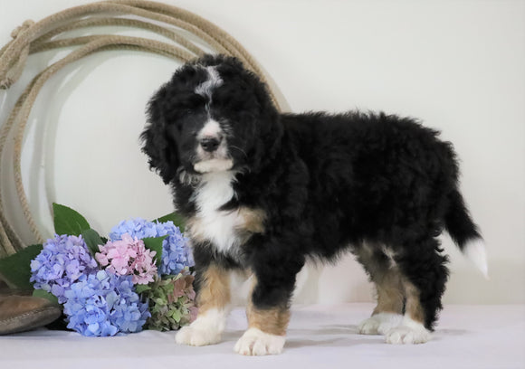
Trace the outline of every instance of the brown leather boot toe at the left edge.
<path fill-rule="evenodd" d="M 45 298 L 0 296 L 0 335 L 45 326 L 61 314 L 61 308 Z"/>

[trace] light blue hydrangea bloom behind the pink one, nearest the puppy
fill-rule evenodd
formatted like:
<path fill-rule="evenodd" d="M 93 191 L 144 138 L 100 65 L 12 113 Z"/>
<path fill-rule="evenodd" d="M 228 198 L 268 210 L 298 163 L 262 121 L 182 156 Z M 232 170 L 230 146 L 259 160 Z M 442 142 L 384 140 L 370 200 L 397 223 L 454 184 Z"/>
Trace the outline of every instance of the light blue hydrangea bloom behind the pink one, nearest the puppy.
<path fill-rule="evenodd" d="M 141 218 L 122 221 L 111 230 L 110 240 L 120 240 L 124 233 L 138 239 L 167 235 L 162 242 L 162 262 L 158 269 L 160 275 L 178 274 L 185 267 L 195 264 L 187 238 L 173 222 L 148 222 Z"/>

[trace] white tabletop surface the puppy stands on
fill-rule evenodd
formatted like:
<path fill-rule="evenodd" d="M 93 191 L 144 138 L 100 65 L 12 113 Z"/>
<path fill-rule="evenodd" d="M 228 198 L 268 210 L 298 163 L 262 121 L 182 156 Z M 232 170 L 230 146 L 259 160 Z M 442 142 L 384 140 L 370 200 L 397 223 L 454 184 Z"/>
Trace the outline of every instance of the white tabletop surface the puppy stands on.
<path fill-rule="evenodd" d="M 0 336 L 0 368 L 525 368 L 525 306 L 447 306 L 432 341 L 387 345 L 357 334 L 371 304 L 293 307 L 282 355 L 244 357 L 233 347 L 246 327 L 234 309 L 223 342 L 175 344 L 175 332 L 89 338 L 36 330 Z"/>

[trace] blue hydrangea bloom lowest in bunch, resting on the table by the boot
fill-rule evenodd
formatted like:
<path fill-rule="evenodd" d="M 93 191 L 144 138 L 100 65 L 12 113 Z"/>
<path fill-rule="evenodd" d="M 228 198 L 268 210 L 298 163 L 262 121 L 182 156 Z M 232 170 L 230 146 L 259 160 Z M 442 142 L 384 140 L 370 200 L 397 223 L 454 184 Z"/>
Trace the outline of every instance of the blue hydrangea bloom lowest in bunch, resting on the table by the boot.
<path fill-rule="evenodd" d="M 115 336 L 142 330 L 151 314 L 133 289 L 131 276 L 100 270 L 83 274 L 64 293 L 68 328 L 83 336 Z"/>

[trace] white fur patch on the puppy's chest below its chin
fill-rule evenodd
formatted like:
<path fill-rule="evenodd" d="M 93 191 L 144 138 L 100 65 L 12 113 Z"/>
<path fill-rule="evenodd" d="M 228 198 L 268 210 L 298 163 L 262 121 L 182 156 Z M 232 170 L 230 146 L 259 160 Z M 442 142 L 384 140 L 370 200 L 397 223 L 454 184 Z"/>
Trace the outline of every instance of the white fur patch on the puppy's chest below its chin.
<path fill-rule="evenodd" d="M 217 251 L 234 252 L 241 242 L 238 229 L 245 222 L 242 212 L 218 210 L 234 197 L 231 172 L 203 175 L 196 190 L 196 217 L 190 222 L 190 235 L 197 241 L 211 241 Z"/>

